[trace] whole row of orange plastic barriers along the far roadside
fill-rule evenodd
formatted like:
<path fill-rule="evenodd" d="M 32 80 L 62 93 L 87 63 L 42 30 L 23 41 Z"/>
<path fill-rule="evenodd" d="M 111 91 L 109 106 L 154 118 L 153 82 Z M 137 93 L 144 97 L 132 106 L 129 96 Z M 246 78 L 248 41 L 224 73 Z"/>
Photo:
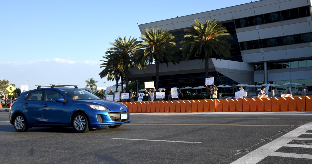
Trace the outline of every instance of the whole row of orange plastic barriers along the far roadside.
<path fill-rule="evenodd" d="M 122 103 L 133 113 L 312 111 L 312 96 Z"/>

